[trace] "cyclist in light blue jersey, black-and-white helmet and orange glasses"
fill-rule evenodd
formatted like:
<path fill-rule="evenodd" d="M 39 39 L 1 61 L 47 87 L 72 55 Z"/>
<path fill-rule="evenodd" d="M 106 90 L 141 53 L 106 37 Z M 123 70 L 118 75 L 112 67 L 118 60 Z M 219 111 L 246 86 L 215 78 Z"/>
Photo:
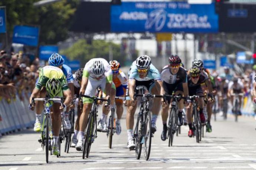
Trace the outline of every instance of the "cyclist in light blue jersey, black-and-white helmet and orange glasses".
<path fill-rule="evenodd" d="M 134 113 L 137 108 L 137 100 L 134 99 L 135 87 L 145 86 L 148 91 L 152 94 L 164 94 L 163 83 L 160 78 L 159 71 L 151 64 L 151 59 L 147 55 L 138 57 L 131 65 L 129 71 L 128 87 L 126 91 L 127 100 L 127 115 L 126 115 L 126 126 L 128 134 L 127 147 L 132 150 L 135 148 L 133 140 L 133 126 L 134 126 Z M 155 126 L 158 112 L 160 110 L 160 100 L 154 99 L 152 106 L 152 120 L 151 130 L 154 133 L 157 128 Z"/>

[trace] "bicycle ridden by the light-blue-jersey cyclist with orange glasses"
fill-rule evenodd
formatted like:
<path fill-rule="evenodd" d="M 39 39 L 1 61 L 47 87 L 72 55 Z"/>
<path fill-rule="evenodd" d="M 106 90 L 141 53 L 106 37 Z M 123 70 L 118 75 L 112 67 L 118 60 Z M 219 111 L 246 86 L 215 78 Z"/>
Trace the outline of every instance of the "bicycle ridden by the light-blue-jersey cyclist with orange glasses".
<path fill-rule="evenodd" d="M 151 114 L 149 109 L 150 98 L 163 96 L 150 93 L 144 94 L 144 92 L 147 90 L 147 87 L 145 86 L 137 86 L 136 90 L 141 91 L 141 94 L 135 93 L 134 99 L 136 97 L 141 97 L 141 105 L 134 130 L 135 155 L 137 159 L 140 159 L 142 144 L 144 144 L 144 157 L 145 160 L 148 160 L 151 150 L 151 137 L 153 136 L 151 131 Z"/>

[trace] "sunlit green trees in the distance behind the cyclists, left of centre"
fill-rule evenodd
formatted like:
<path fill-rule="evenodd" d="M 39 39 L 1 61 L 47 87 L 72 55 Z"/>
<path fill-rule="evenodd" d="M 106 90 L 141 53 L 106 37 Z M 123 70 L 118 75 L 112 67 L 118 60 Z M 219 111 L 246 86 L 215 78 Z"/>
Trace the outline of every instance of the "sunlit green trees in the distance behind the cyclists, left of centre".
<path fill-rule="evenodd" d="M 121 55 L 121 45 L 104 40 L 93 40 L 92 44 L 86 43 L 86 40 L 78 40 L 72 47 L 61 50 L 60 54 L 69 57 L 70 60 L 79 60 L 81 63 L 86 63 L 93 58 L 104 58 L 108 61 L 110 46 L 112 46 L 113 60 L 123 64 L 125 57 Z"/>

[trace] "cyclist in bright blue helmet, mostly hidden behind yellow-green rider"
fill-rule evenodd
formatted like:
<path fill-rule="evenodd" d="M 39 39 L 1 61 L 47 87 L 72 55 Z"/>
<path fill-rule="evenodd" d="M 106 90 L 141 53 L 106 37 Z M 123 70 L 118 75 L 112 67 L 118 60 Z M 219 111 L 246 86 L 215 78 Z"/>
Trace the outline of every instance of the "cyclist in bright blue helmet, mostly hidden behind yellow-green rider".
<path fill-rule="evenodd" d="M 55 67 L 59 67 L 64 75 L 66 76 L 67 79 L 67 83 L 68 83 L 68 87 L 71 90 L 71 94 L 72 94 L 72 99 L 74 96 L 74 79 L 72 76 L 72 71 L 71 68 L 69 66 L 67 66 L 64 63 L 64 59 L 61 55 L 59 55 L 58 53 L 53 53 L 49 60 L 48 60 L 48 64 L 50 66 L 55 66 Z M 70 120 L 69 120 L 69 110 L 70 110 L 70 106 L 67 107 L 66 112 L 64 113 L 64 126 L 66 129 L 70 129 L 71 128 L 71 124 L 70 124 Z"/>

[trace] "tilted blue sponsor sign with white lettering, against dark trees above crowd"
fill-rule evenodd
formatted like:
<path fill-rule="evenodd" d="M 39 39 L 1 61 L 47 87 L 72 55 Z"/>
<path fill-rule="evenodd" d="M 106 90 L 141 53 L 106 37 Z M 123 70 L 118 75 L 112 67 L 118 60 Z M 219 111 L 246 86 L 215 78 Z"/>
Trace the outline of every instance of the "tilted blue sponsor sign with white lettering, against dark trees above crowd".
<path fill-rule="evenodd" d="M 31 26 L 15 26 L 13 30 L 13 43 L 37 46 L 39 28 Z"/>

